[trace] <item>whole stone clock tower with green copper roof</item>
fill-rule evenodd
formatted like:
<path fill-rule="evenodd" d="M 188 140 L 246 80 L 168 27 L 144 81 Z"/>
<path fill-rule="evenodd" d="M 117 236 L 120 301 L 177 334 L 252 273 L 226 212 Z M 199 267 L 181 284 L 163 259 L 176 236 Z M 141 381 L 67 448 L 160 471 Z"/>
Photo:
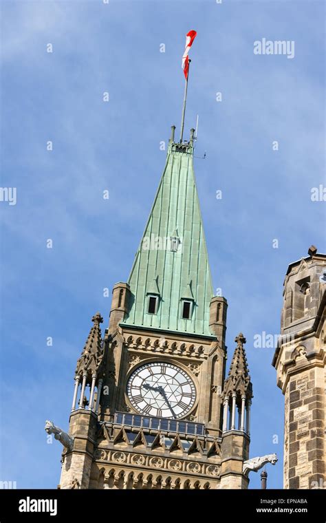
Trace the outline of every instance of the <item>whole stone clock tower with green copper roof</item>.
<path fill-rule="evenodd" d="M 61 488 L 245 489 L 252 386 L 242 334 L 226 374 L 193 171 L 194 129 L 175 142 L 109 327 L 78 360 Z M 79 401 L 78 401 L 79 398 Z"/>

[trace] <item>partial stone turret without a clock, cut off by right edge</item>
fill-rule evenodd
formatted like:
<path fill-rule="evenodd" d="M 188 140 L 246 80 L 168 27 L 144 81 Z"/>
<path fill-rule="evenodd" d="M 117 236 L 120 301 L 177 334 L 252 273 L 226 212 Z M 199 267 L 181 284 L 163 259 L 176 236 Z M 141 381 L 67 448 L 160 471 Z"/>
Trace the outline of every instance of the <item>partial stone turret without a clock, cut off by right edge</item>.
<path fill-rule="evenodd" d="M 308 254 L 287 269 L 273 359 L 285 395 L 285 489 L 326 488 L 326 255 Z"/>

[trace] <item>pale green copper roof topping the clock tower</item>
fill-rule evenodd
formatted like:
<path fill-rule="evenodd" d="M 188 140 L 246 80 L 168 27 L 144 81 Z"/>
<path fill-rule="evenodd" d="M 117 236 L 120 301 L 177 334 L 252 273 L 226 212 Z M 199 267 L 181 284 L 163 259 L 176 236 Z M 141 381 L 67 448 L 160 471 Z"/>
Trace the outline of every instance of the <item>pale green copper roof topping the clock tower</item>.
<path fill-rule="evenodd" d="M 174 130 L 129 276 L 131 306 L 123 323 L 210 336 L 213 287 L 193 170 L 194 130 L 182 144 L 174 142 Z"/>

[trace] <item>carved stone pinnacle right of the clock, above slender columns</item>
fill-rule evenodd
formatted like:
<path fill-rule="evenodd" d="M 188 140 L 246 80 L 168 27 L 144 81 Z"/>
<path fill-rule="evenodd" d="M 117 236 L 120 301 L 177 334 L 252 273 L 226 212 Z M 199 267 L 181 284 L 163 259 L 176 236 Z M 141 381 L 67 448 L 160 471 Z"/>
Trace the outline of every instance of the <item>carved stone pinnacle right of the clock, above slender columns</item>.
<path fill-rule="evenodd" d="M 230 392 L 240 392 L 246 394 L 247 397 L 252 397 L 252 384 L 250 382 L 250 374 L 248 369 L 248 362 L 246 359 L 246 351 L 243 345 L 246 343 L 246 338 L 240 332 L 235 338 L 237 347 L 233 353 L 228 378 L 224 383 L 224 394 Z"/>

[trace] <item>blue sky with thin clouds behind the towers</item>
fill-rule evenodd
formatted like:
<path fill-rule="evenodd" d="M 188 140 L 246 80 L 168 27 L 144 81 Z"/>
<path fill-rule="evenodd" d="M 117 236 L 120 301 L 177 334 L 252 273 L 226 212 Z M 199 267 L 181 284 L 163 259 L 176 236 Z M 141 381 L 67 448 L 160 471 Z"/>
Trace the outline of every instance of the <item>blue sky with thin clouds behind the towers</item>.
<path fill-rule="evenodd" d="M 17 204 L 0 202 L 0 479 L 59 482 L 61 445 L 47 444 L 45 420 L 67 429 L 91 317 L 100 310 L 107 325 L 103 288 L 111 295 L 129 275 L 160 142 L 173 124 L 179 134 L 181 56 L 195 29 L 185 136 L 199 114 L 195 154 L 206 158 L 195 172 L 229 354 L 239 331 L 247 339 L 250 456 L 279 455 L 268 487 L 281 488 L 283 395 L 273 349 L 253 344 L 279 333 L 287 265 L 310 244 L 326 251 L 325 202 L 311 200 L 325 186 L 323 2 L 3 0 L 1 10 L 1 186 L 17 187 Z M 262 38 L 294 41 L 294 58 L 255 55 Z M 252 473 L 250 487 L 259 483 Z"/>

